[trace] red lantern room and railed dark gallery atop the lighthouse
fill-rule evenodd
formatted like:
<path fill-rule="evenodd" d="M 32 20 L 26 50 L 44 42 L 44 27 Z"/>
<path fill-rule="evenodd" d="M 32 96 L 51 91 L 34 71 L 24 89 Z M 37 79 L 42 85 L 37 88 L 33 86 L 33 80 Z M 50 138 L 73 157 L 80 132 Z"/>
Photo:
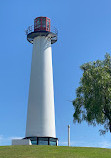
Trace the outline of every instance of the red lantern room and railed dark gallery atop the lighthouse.
<path fill-rule="evenodd" d="M 34 25 L 31 25 L 25 31 L 27 40 L 33 44 L 33 40 L 37 36 L 46 36 L 51 39 L 51 44 L 57 41 L 58 30 L 51 26 L 50 19 L 47 17 L 37 17 L 34 20 Z"/>

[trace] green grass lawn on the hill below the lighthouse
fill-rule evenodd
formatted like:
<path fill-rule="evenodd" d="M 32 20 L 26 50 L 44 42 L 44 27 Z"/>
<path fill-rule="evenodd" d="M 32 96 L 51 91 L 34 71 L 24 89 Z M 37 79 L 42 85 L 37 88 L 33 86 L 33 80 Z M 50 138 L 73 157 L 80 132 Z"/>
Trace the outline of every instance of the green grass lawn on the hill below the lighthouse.
<path fill-rule="evenodd" d="M 0 146 L 0 158 L 111 158 L 111 149 L 65 146 Z"/>

